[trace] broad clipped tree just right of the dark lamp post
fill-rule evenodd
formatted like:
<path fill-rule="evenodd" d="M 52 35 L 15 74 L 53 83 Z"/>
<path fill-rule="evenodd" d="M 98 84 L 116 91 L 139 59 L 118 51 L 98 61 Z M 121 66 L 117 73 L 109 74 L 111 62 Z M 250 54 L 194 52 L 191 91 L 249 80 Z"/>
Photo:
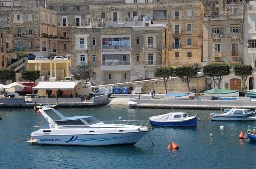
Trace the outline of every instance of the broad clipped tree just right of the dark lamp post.
<path fill-rule="evenodd" d="M 230 66 L 228 64 L 218 63 L 211 65 L 204 65 L 203 67 L 204 76 L 209 76 L 215 82 L 214 77 L 218 79 L 218 83 L 215 84 L 218 86 L 218 89 L 221 87 L 221 80 L 223 76 L 227 76 L 230 73 Z"/>

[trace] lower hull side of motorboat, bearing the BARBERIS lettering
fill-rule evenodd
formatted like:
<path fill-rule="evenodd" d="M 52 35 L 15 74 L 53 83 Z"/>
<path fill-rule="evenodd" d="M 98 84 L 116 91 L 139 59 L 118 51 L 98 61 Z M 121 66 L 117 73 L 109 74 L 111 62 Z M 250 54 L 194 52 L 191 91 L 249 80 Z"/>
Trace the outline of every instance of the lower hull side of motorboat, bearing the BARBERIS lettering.
<path fill-rule="evenodd" d="M 144 132 L 81 134 L 81 135 L 31 135 L 38 144 L 69 146 L 134 145 L 150 130 Z"/>

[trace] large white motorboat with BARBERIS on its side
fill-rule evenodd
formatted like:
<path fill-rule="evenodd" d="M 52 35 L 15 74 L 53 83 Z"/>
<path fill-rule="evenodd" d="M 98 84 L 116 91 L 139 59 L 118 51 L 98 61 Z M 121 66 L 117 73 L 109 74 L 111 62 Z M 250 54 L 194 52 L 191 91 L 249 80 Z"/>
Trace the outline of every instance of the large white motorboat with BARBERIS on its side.
<path fill-rule="evenodd" d="M 35 126 L 27 142 L 79 146 L 134 145 L 150 131 L 150 127 L 146 127 L 148 121 L 99 121 L 92 115 L 66 118 L 57 110 L 52 110 L 61 120 L 52 120 L 43 109 L 39 109 L 49 124 Z M 140 126 L 136 125 L 138 123 Z"/>

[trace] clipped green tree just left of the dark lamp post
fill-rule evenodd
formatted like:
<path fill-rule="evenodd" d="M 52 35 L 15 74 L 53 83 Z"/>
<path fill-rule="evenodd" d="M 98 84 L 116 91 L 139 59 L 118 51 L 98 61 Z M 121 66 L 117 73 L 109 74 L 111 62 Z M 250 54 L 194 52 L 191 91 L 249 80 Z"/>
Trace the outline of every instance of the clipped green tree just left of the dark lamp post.
<path fill-rule="evenodd" d="M 180 77 L 187 84 L 188 91 L 190 92 L 189 82 L 196 76 L 196 70 L 192 66 L 182 66 L 175 68 L 174 74 L 175 76 Z"/>

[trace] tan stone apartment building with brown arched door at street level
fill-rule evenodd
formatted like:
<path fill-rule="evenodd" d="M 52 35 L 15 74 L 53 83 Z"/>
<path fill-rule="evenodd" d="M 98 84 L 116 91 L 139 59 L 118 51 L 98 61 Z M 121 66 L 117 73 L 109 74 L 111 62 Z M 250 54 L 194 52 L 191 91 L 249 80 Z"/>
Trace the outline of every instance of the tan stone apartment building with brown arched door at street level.
<path fill-rule="evenodd" d="M 241 90 L 241 78 L 234 75 L 234 65 L 243 59 L 243 3 L 236 0 L 203 1 L 203 62 L 204 65 L 227 63 L 230 76 L 225 76 L 229 89 Z M 212 83 L 212 88 L 215 84 Z"/>

